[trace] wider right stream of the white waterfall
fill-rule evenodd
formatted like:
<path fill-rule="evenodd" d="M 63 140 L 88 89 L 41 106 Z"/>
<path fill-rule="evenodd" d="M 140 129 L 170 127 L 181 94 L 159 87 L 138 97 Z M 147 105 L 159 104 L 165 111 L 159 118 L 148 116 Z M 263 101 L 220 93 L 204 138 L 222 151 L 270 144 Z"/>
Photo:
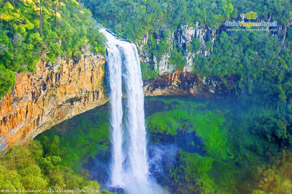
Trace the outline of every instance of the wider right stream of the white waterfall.
<path fill-rule="evenodd" d="M 125 83 L 127 90 L 127 122 L 130 134 L 128 155 L 134 177 L 145 178 L 148 174 L 146 154 L 146 130 L 144 119 L 144 93 L 140 60 L 136 46 L 129 43 L 125 50 Z"/>

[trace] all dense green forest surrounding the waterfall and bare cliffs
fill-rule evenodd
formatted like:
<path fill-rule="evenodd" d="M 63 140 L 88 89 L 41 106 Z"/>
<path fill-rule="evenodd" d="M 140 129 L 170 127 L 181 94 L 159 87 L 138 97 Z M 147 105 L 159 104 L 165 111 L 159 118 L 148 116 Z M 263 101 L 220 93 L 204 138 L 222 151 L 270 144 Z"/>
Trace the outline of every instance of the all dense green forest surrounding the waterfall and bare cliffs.
<path fill-rule="evenodd" d="M 175 70 L 184 68 L 186 51 L 191 51 L 196 54 L 193 73 L 223 80 L 238 75 L 233 87 L 244 93 L 237 94 L 236 108 L 247 109 L 237 113 L 230 107 L 211 110 L 207 103 L 161 100 L 167 108 L 147 115 L 152 136 L 165 140 L 195 131 L 203 144 L 196 148 L 190 141 L 180 147 L 159 183 L 174 193 L 292 193 L 291 1 L 0 0 L 0 6 L 0 97 L 13 87 L 16 73 L 35 71 L 42 54 L 53 63 L 58 56 L 79 55 L 88 43 L 93 52 L 105 54 L 96 21 L 137 44 L 149 33 L 149 53 L 160 60 L 170 52 Z M 250 11 L 258 20 L 277 21 L 277 30 L 226 31 L 224 21 Z M 213 45 L 208 37 L 204 45 L 198 39 L 184 47 L 170 42 L 183 25 L 217 29 Z M 207 56 L 197 54 L 212 47 Z M 154 64 L 141 63 L 141 70 L 144 79 L 158 75 Z M 108 154 L 109 114 L 101 111 L 93 122 L 80 118 L 72 128 L 79 135 L 47 131 L 24 147 L 6 150 L 0 160 L 0 188 L 66 189 L 77 184 L 98 189 L 98 182 L 79 167 L 88 162 L 86 157 Z"/>

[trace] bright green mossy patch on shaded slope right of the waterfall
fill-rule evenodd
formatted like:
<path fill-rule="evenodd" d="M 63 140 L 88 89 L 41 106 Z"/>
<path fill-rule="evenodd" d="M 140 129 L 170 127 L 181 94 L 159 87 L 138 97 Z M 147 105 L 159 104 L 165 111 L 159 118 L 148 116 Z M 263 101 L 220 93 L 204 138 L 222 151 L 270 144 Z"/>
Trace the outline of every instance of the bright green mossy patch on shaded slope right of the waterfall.
<path fill-rule="evenodd" d="M 223 126 L 225 118 L 218 111 L 197 111 L 195 108 L 183 109 L 176 107 L 171 111 L 157 112 L 147 117 L 148 129 L 152 133 L 169 134 L 190 133 L 196 131 L 196 135 L 204 140 L 205 150 L 213 157 L 227 158 L 227 130 Z"/>

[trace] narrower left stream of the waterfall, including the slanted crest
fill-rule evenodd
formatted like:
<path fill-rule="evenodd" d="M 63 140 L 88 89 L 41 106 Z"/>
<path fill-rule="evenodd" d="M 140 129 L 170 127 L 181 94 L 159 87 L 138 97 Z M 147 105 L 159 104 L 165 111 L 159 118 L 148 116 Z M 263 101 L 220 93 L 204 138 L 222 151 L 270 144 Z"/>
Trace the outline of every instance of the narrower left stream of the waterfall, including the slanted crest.
<path fill-rule="evenodd" d="M 123 131 L 122 131 L 122 56 L 120 47 L 113 35 L 109 34 L 105 29 L 101 29 L 107 37 L 107 67 L 109 77 L 109 101 L 111 107 L 111 143 L 112 143 L 112 164 L 111 164 L 111 180 L 115 186 L 122 186 L 122 163 L 124 154 L 122 152 Z"/>

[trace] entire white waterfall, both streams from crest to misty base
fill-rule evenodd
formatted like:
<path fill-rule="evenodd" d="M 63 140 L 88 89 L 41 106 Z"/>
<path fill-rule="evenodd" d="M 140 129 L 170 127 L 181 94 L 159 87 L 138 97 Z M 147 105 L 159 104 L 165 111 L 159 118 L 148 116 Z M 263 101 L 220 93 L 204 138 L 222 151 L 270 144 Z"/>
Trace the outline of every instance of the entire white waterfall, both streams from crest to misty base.
<path fill-rule="evenodd" d="M 133 43 L 119 40 L 107 29 L 100 29 L 100 32 L 107 38 L 106 60 L 112 125 L 112 186 L 120 186 L 130 194 L 162 193 L 160 187 L 155 181 L 150 180 L 148 175 L 144 93 L 137 48 Z M 125 130 L 128 136 L 125 139 L 122 129 L 122 76 L 127 92 Z M 126 150 L 126 153 L 123 150 Z"/>

